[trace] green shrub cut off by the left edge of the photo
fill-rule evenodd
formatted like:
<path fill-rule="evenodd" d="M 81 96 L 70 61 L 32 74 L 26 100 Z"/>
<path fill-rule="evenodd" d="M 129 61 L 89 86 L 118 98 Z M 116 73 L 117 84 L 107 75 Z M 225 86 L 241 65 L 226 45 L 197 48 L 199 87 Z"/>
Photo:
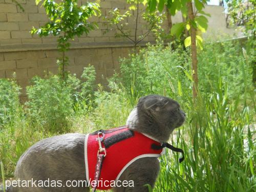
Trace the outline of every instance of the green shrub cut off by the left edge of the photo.
<path fill-rule="evenodd" d="M 15 80 L 0 79 L 0 128 L 20 117 L 19 90 Z"/>

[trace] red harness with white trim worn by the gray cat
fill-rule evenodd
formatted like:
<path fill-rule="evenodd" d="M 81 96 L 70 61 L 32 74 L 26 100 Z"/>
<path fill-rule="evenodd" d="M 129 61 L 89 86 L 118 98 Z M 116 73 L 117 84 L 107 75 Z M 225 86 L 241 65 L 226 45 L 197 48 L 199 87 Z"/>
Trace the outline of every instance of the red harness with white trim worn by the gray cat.
<path fill-rule="evenodd" d="M 164 153 L 162 143 L 154 138 L 136 131 L 127 126 L 102 131 L 102 147 L 105 148 L 106 156 L 100 170 L 99 181 L 117 181 L 124 170 L 134 161 L 145 157 L 160 157 Z M 157 147 L 152 147 L 152 146 Z M 97 154 L 99 150 L 98 132 L 86 135 L 84 141 L 84 158 L 86 162 L 87 182 L 94 180 L 95 167 L 97 165 Z M 97 189 L 106 190 L 111 187 L 103 185 Z"/>

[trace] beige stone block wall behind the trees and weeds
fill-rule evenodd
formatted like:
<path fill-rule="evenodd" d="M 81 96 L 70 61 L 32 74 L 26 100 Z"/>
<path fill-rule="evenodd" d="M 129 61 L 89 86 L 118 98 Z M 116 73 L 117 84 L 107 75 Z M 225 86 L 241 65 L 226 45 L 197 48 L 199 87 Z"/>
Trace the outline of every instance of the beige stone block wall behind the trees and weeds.
<path fill-rule="evenodd" d="M 12 0 L 0 0 L 0 78 L 11 78 L 16 72 L 17 81 L 22 87 L 22 98 L 26 96 L 25 87 L 29 85 L 31 77 L 44 76 L 50 72 L 56 74 L 56 58 L 59 54 L 56 50 L 56 37 L 49 36 L 40 38 L 31 36 L 32 27 L 41 27 L 47 21 L 45 10 L 35 5 L 35 0 L 17 0 L 25 9 L 25 12 L 12 2 Z M 79 0 L 82 5 L 84 0 Z M 92 22 L 97 22 L 99 28 L 90 32 L 88 36 L 75 38 L 71 50 L 68 52 L 70 66 L 68 70 L 76 73 L 78 77 L 83 67 L 89 63 L 94 65 L 97 71 L 97 83 L 106 84 L 106 78 L 113 75 L 114 70 L 119 70 L 118 57 L 125 57 L 132 49 L 132 44 L 125 38 L 116 38 L 116 31 L 106 30 L 110 28 L 105 25 L 104 16 L 108 15 L 113 8 L 124 12 L 128 9 L 126 0 L 101 0 L 102 17 L 93 17 Z M 216 9 L 217 8 L 217 9 Z M 216 31 L 227 30 L 224 25 L 225 15 L 223 8 L 218 6 L 206 6 L 211 13 L 209 28 Z M 221 25 L 220 25 L 221 20 Z M 181 13 L 172 17 L 172 22 L 182 22 Z M 216 22 L 218 25 L 216 25 Z M 127 30 L 134 33 L 135 16 L 127 18 Z M 138 33 L 143 34 L 147 27 L 139 20 Z M 167 28 L 167 20 L 163 27 Z M 218 28 L 216 28 L 218 26 Z M 221 28 L 221 29 L 220 29 Z M 148 35 L 140 45 L 154 41 L 153 34 Z M 103 78 L 102 78 L 103 77 Z"/>

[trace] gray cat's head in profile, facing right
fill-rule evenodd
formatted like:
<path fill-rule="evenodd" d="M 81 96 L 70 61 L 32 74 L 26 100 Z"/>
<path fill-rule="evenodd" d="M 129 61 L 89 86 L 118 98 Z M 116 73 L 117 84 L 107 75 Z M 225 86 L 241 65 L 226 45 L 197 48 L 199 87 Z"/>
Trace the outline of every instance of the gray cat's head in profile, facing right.
<path fill-rule="evenodd" d="M 130 129 L 166 142 L 184 120 L 185 113 L 177 101 L 160 95 L 147 95 L 139 99 L 126 124 Z"/>

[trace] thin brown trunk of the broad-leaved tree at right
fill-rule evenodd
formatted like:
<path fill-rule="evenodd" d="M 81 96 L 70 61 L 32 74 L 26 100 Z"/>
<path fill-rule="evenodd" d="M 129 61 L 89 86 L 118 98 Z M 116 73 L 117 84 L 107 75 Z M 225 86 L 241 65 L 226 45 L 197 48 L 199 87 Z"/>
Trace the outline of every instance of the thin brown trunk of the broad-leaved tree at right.
<path fill-rule="evenodd" d="M 187 3 L 188 18 L 194 20 L 195 15 L 193 11 L 192 2 Z M 193 100 L 196 101 L 198 93 L 198 73 L 197 73 L 197 44 L 196 44 L 196 29 L 190 25 L 191 36 L 191 60 L 192 60 L 192 78 L 193 78 Z"/>

